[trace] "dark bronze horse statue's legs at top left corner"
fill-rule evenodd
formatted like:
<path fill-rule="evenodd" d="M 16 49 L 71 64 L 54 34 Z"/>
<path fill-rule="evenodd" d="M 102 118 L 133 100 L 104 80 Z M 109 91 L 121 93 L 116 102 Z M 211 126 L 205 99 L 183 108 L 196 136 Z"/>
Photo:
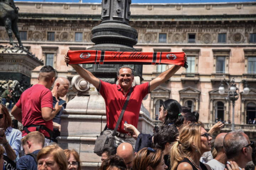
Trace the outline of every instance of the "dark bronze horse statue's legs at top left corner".
<path fill-rule="evenodd" d="M 6 27 L 12 46 L 15 46 L 14 40 L 12 39 L 13 32 L 19 42 L 19 47 L 23 48 L 17 24 L 19 18 L 18 13 L 19 7 L 15 7 L 14 0 L 0 0 L 0 26 Z"/>

